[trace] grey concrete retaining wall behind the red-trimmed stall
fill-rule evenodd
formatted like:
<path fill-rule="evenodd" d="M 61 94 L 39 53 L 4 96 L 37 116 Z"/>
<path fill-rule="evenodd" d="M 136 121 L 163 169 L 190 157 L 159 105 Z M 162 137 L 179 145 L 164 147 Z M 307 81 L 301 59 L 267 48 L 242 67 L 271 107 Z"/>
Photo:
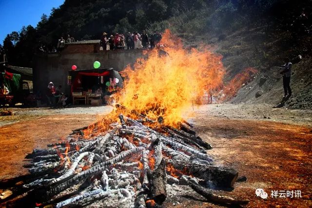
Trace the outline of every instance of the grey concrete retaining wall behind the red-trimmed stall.
<path fill-rule="evenodd" d="M 101 63 L 100 68 L 114 68 L 116 71 L 122 71 L 128 64 L 133 64 L 138 57 L 143 57 L 141 50 L 115 50 L 115 51 L 98 51 L 92 47 L 86 46 L 79 48 L 85 49 L 82 53 L 71 54 L 69 47 L 65 48 L 60 54 L 43 54 L 36 55 L 34 59 L 33 76 L 34 91 L 40 91 L 43 95 L 46 92 L 48 83 L 52 81 L 56 86 L 62 85 L 62 91 L 70 95 L 70 86 L 67 85 L 68 72 L 71 71 L 72 65 L 77 69 L 94 69 L 94 61 Z M 76 49 L 78 49 L 78 47 Z M 73 47 L 73 49 L 75 49 Z M 77 51 L 76 51 L 77 52 Z"/>

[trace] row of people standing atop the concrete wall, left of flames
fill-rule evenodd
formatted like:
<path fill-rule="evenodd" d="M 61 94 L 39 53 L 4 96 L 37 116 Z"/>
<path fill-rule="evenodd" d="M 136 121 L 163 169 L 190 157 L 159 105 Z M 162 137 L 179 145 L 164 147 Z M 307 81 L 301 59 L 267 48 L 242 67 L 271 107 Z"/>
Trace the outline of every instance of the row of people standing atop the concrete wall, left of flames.
<path fill-rule="evenodd" d="M 161 34 L 154 31 L 149 37 L 146 30 L 141 34 L 138 32 L 128 32 L 126 36 L 123 34 L 114 34 L 108 37 L 107 33 L 103 33 L 100 39 L 100 50 L 117 50 L 117 49 L 148 49 L 154 48 L 161 40 Z"/>

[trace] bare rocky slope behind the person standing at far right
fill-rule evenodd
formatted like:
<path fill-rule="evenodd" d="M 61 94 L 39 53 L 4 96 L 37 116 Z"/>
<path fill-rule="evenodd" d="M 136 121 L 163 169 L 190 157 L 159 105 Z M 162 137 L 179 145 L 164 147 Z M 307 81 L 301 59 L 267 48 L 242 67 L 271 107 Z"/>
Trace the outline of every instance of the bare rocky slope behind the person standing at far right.
<path fill-rule="evenodd" d="M 312 109 L 312 58 L 303 58 L 292 66 L 292 96 L 283 100 L 283 82 L 277 67 L 260 70 L 253 81 L 244 84 L 232 103 L 268 103 L 272 107 Z"/>

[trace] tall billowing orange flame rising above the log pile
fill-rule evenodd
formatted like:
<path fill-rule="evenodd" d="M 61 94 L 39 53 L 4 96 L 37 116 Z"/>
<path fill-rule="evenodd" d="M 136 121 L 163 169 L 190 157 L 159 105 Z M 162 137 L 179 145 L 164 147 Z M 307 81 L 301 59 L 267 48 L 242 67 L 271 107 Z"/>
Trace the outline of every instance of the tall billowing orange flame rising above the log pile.
<path fill-rule="evenodd" d="M 162 116 L 164 124 L 175 126 L 193 101 L 222 83 L 224 68 L 221 56 L 207 47 L 187 51 L 169 30 L 160 44 L 164 47 L 150 51 L 146 59 L 137 59 L 134 69 L 127 66 L 122 72 L 125 87 L 117 102 L 155 120 Z"/>

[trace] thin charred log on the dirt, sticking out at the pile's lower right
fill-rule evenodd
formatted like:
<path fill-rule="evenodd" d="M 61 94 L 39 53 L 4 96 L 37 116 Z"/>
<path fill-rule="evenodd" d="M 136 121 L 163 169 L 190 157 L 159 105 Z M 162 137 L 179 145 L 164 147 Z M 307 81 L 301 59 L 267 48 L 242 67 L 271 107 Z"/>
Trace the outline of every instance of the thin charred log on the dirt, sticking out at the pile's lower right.
<path fill-rule="evenodd" d="M 231 204 L 231 205 L 247 205 L 249 200 L 237 200 L 229 196 L 217 195 L 210 191 L 209 189 L 205 189 L 201 186 L 190 184 L 191 188 L 194 189 L 197 193 L 205 197 L 208 201 L 221 203 L 221 204 Z"/>

